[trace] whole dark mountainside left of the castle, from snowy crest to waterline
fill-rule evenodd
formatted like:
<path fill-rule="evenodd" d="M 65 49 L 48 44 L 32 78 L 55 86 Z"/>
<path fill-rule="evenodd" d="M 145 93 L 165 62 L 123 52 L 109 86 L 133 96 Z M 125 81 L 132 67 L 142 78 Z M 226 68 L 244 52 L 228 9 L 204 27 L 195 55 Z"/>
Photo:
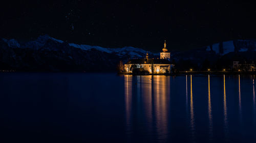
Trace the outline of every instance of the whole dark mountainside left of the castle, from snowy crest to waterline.
<path fill-rule="evenodd" d="M 0 69 L 16 71 L 115 71 L 117 63 L 142 58 L 140 48 L 103 48 L 78 45 L 40 36 L 20 42 L 0 39 Z M 150 52 L 149 52 L 150 53 Z"/>

